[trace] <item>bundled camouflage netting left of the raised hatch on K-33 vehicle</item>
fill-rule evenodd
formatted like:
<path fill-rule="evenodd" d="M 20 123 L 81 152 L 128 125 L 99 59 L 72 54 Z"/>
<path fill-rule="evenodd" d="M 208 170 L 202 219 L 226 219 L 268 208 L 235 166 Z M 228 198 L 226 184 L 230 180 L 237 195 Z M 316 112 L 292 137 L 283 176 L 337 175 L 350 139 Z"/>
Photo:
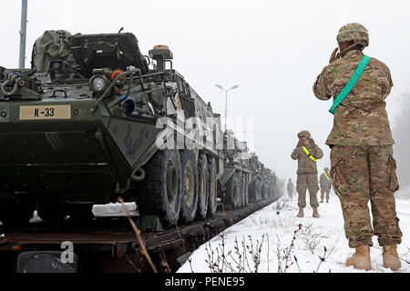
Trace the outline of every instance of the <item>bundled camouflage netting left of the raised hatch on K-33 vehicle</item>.
<path fill-rule="evenodd" d="M 68 45 L 70 36 L 66 30 L 47 30 L 38 37 L 33 47 L 31 67 L 37 72 L 47 72 L 51 60 L 64 60 L 68 65 L 77 67 Z"/>

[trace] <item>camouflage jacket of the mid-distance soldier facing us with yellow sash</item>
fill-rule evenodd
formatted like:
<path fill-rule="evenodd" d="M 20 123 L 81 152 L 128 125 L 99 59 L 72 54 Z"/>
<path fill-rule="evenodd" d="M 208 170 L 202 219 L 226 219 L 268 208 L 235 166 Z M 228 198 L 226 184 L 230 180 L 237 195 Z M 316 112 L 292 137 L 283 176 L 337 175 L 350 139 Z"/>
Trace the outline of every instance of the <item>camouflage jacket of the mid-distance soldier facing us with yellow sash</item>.
<path fill-rule="evenodd" d="M 306 148 L 316 159 L 323 157 L 322 149 L 319 146 L 314 145 L 314 143 L 313 146 L 308 145 Z M 298 144 L 298 146 L 296 146 L 293 150 L 291 157 L 294 160 L 298 160 L 298 170 L 296 171 L 297 174 L 317 174 L 316 162 L 306 155 L 300 144 Z"/>

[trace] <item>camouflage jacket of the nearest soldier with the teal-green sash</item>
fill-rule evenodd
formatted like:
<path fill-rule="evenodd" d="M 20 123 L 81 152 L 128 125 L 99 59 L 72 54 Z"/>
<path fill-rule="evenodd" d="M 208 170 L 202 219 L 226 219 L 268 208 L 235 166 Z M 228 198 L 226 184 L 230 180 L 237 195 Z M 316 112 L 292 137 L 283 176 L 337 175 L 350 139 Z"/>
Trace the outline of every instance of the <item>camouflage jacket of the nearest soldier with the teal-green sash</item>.
<path fill-rule="evenodd" d="M 313 85 L 314 95 L 321 100 L 328 100 L 333 96 L 334 100 L 354 75 L 363 55 L 362 52 L 353 50 L 325 66 Z M 371 58 L 350 94 L 336 107 L 333 129 L 327 137 L 326 145 L 393 145 L 395 141 L 384 102 L 392 86 L 389 68 Z"/>

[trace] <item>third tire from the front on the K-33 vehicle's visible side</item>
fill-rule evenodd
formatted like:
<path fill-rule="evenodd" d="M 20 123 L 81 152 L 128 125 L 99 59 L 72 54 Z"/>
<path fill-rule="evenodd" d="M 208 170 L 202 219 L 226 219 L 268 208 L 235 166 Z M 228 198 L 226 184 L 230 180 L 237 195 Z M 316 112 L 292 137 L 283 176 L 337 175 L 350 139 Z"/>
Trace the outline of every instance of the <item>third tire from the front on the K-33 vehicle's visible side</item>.
<path fill-rule="evenodd" d="M 198 157 L 198 206 L 196 219 L 205 219 L 208 212 L 210 189 L 208 188 L 209 171 L 208 161 L 205 154 L 200 154 Z"/>

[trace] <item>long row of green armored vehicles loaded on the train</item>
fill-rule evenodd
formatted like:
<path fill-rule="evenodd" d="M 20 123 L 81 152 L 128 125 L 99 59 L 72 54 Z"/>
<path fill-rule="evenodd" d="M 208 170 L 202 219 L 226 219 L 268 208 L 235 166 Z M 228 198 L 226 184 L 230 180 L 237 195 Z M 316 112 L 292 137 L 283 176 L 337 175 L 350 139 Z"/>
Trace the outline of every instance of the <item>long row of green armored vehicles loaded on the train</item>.
<path fill-rule="evenodd" d="M 152 65 L 152 68 L 149 68 Z M 0 221 L 92 218 L 118 196 L 164 226 L 278 197 L 277 177 L 157 45 L 130 33 L 37 39 L 32 68 L 0 67 Z M 218 199 L 220 198 L 220 199 Z"/>

